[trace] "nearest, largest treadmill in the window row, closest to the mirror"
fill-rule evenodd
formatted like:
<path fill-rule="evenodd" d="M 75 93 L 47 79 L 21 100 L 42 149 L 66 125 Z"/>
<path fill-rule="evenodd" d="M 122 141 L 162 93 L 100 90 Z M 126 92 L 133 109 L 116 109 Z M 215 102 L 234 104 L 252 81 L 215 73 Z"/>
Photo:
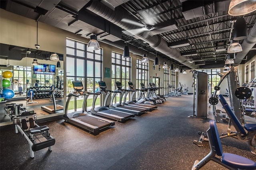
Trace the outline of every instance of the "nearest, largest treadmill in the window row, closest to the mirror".
<path fill-rule="evenodd" d="M 112 120 L 104 119 L 102 117 L 87 113 L 86 101 L 88 99 L 88 96 L 90 94 L 96 94 L 96 93 L 88 93 L 88 92 L 82 91 L 84 87 L 81 81 L 73 81 L 72 84 L 75 91 L 68 94 L 68 99 L 65 106 L 65 114 L 63 116 L 65 121 L 70 122 L 74 125 L 77 125 L 82 129 L 88 130 L 89 132 L 94 133 L 94 135 L 98 135 L 100 133 L 100 130 L 102 129 L 115 125 L 115 122 Z M 72 97 L 78 98 L 79 96 L 84 96 L 82 111 L 76 111 L 76 105 L 75 105 L 75 110 L 71 113 L 68 113 L 68 105 L 70 103 L 71 98 Z"/>

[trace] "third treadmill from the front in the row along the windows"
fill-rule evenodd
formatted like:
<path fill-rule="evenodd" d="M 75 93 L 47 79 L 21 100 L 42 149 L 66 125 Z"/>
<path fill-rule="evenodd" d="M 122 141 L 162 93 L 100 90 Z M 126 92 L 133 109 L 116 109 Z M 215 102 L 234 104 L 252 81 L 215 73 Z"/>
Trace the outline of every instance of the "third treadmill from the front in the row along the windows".
<path fill-rule="evenodd" d="M 126 90 L 122 89 L 122 83 L 121 82 L 116 82 L 116 86 L 117 86 L 118 89 L 113 92 L 111 102 L 110 102 L 111 105 L 109 106 L 110 110 L 125 111 L 125 112 L 133 113 L 133 114 L 136 114 L 136 115 L 142 115 L 143 113 L 145 113 L 147 111 L 147 109 L 144 109 L 144 108 L 141 108 L 141 107 L 123 105 L 122 104 L 122 98 L 123 98 L 124 93 L 126 92 Z M 113 104 L 114 98 L 115 98 L 117 93 L 120 93 L 119 103 Z"/>

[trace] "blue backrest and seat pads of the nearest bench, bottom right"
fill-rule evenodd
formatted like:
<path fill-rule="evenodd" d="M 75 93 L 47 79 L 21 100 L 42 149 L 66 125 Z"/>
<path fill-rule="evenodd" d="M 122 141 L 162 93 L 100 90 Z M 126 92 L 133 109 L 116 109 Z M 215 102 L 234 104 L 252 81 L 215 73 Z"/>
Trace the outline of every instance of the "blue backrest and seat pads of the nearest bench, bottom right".
<path fill-rule="evenodd" d="M 240 155 L 222 152 L 220 136 L 214 120 L 210 121 L 210 132 L 211 132 L 211 138 L 212 138 L 211 140 L 212 140 L 213 147 L 215 148 L 216 154 L 218 156 L 222 156 L 222 163 L 232 168 L 238 168 L 238 169 L 244 169 L 244 170 L 256 169 L 256 162 L 254 162 L 253 160 L 250 160 Z"/>

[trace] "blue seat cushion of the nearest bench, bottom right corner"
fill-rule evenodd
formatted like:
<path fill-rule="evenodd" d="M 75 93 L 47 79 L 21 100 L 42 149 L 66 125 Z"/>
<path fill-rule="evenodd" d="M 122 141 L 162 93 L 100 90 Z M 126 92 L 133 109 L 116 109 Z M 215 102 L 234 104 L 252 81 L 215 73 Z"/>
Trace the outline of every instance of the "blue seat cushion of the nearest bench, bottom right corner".
<path fill-rule="evenodd" d="M 255 170 L 256 163 L 253 160 L 244 158 L 231 153 L 222 154 L 222 162 L 230 167 L 243 169 L 243 170 Z"/>

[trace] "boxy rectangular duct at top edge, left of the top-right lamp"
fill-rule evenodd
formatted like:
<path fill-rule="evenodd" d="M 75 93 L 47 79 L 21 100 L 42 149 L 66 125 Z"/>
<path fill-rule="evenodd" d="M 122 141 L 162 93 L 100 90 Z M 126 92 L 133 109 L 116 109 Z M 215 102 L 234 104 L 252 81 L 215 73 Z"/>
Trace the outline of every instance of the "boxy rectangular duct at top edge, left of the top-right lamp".
<path fill-rule="evenodd" d="M 187 0 L 182 2 L 182 14 L 185 20 L 191 20 L 220 11 L 228 11 L 229 3 L 230 0 Z"/>

